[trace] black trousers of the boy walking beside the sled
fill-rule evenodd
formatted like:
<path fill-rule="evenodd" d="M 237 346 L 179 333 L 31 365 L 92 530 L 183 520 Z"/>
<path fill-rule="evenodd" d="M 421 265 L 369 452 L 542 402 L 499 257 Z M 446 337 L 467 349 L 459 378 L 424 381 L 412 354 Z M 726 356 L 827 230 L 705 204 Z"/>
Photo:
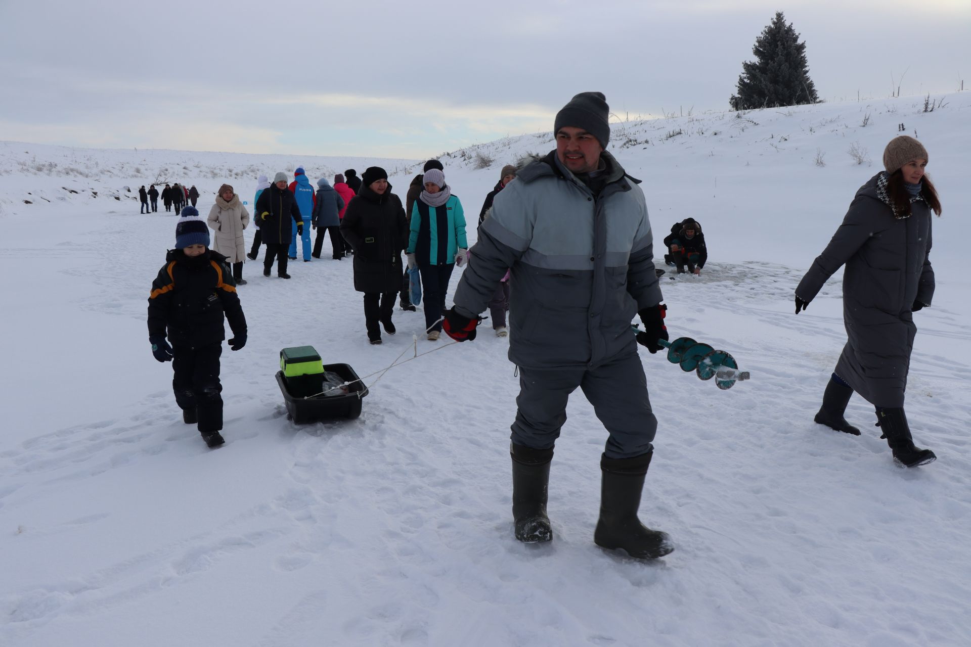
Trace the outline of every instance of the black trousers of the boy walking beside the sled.
<path fill-rule="evenodd" d="M 219 383 L 219 356 L 222 342 L 193 348 L 172 344 L 172 390 L 176 404 L 192 409 L 203 434 L 222 429 L 222 384 Z"/>

